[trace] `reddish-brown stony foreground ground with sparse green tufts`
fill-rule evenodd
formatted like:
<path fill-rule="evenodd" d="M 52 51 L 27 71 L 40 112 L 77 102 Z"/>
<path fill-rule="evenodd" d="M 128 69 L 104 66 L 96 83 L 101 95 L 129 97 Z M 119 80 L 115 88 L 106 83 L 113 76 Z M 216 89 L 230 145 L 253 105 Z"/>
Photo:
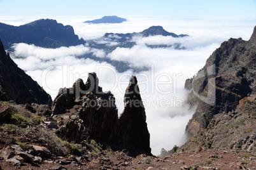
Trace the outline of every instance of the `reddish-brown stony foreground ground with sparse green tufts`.
<path fill-rule="evenodd" d="M 166 157 L 145 154 L 131 157 L 127 155 L 127 150 L 115 151 L 106 143 L 97 143 L 92 139 L 74 144 L 56 136 L 58 129 L 62 129 L 61 122 L 67 121 L 67 117 L 74 120 L 76 115 L 62 114 L 52 117 L 50 108 L 46 105 L 0 102 L 0 115 L 4 113 L 11 114 L 12 123 L 0 122 L 0 169 L 233 170 L 253 169 L 256 166 L 256 157 L 250 153 L 206 147 L 183 149 Z M 145 117 L 143 112 L 141 115 Z M 83 124 L 82 119 L 76 121 Z M 69 131 L 69 136 L 73 136 L 73 132 L 78 134 L 80 130 L 70 129 L 73 131 Z"/>

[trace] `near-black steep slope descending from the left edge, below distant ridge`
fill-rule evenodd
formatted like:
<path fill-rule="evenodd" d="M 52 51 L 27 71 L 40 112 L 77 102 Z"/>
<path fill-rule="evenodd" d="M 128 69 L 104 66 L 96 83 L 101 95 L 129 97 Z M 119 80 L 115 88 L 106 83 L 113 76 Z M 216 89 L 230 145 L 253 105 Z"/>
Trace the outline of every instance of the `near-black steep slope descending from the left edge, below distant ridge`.
<path fill-rule="evenodd" d="M 0 100 L 14 100 L 17 103 L 50 104 L 52 98 L 36 81 L 25 74 L 4 51 L 0 40 Z"/>

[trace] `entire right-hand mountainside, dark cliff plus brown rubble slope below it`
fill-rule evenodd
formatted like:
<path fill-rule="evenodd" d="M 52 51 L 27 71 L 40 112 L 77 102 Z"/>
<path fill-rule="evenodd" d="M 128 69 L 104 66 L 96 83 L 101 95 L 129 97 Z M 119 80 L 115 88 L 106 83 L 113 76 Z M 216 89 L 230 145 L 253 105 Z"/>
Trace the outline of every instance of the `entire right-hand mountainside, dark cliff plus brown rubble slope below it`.
<path fill-rule="evenodd" d="M 229 39 L 185 88 L 197 105 L 187 124 L 186 147 L 243 149 L 255 154 L 256 27 L 249 41 Z M 194 142 L 196 141 L 196 143 Z"/>

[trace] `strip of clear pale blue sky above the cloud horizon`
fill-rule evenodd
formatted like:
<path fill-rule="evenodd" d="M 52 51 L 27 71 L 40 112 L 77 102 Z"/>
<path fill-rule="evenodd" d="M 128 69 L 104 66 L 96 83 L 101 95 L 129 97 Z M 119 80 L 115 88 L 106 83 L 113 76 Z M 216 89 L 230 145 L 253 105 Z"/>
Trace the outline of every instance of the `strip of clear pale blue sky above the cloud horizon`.
<path fill-rule="evenodd" d="M 0 0 L 0 16 L 206 15 L 256 16 L 256 0 L 80 1 Z"/>

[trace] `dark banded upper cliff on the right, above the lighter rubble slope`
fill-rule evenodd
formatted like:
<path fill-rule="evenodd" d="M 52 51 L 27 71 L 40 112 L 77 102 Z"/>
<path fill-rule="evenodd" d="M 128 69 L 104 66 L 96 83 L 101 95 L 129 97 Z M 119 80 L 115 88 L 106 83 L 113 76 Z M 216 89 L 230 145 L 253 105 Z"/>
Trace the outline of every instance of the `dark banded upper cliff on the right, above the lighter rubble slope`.
<path fill-rule="evenodd" d="M 236 110 L 242 98 L 256 95 L 255 28 L 250 41 L 231 38 L 223 42 L 197 76 L 186 81 L 185 88 L 194 91 L 188 103 L 198 102 L 186 128 L 188 136 L 207 128 L 219 114 Z"/>

